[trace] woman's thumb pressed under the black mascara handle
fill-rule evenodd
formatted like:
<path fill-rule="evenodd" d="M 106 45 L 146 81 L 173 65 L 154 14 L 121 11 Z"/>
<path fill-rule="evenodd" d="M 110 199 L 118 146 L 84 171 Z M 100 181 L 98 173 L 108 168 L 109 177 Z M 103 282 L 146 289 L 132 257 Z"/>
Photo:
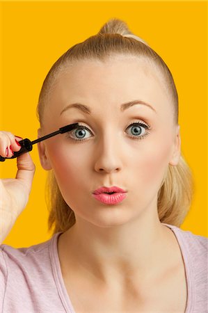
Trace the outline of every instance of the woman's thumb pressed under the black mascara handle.
<path fill-rule="evenodd" d="M 33 163 L 29 152 L 17 157 L 17 169 L 16 179 L 24 183 L 26 188 L 29 188 L 30 192 L 33 176 L 35 174 L 35 164 Z"/>

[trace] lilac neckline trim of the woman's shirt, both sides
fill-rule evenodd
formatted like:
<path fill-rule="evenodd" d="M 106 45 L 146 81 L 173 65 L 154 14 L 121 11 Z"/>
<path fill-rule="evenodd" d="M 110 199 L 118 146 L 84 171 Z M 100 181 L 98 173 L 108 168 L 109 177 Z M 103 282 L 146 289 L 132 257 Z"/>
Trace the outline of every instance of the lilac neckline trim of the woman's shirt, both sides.
<path fill-rule="evenodd" d="M 179 248 L 182 253 L 182 258 L 184 260 L 184 269 L 186 274 L 186 286 L 187 286 L 187 300 L 186 300 L 186 309 L 184 313 L 192 312 L 193 307 L 193 294 L 194 294 L 194 285 L 193 285 L 193 269 L 191 264 L 191 259 L 189 257 L 189 249 L 186 247 L 186 242 L 183 240 L 179 227 L 175 225 L 170 225 L 166 223 L 162 223 L 166 227 L 170 228 L 175 234 L 177 242 L 179 244 Z M 51 238 L 51 245 L 49 246 L 49 254 L 51 257 L 51 267 L 54 275 L 54 280 L 56 282 L 56 287 L 58 290 L 58 295 L 61 298 L 61 302 L 63 303 L 63 307 L 66 312 L 77 313 L 74 310 L 72 302 L 70 300 L 70 296 L 67 294 L 67 289 L 65 287 L 65 283 L 63 281 L 63 275 L 61 272 L 61 264 L 58 257 L 58 237 L 63 234 L 63 232 L 57 232 Z"/>

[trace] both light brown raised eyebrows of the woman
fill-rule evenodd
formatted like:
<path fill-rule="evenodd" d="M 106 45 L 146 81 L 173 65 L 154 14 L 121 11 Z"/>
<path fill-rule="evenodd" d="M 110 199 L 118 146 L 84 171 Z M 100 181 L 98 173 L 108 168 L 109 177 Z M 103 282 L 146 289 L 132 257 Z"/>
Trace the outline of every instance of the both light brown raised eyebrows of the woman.
<path fill-rule="evenodd" d="M 142 104 L 144 106 L 148 106 L 150 109 L 152 109 L 155 113 L 157 113 L 155 111 L 155 109 L 150 105 L 150 104 L 147 104 L 146 102 L 143 102 L 141 100 L 134 100 L 134 101 L 130 101 L 130 102 L 127 102 L 127 103 L 124 103 L 124 104 L 121 104 L 120 106 L 120 111 L 125 111 L 127 109 L 129 109 L 131 106 L 134 106 L 136 104 Z M 65 111 L 67 111 L 68 109 L 71 109 L 71 108 L 77 108 L 79 109 L 80 111 L 82 111 L 83 113 L 85 114 L 88 114 L 90 115 L 92 112 L 89 108 L 89 106 L 86 106 L 84 104 L 81 104 L 81 103 L 72 103 L 72 104 L 68 104 L 65 109 L 63 109 L 63 111 L 61 111 L 61 114 Z"/>

